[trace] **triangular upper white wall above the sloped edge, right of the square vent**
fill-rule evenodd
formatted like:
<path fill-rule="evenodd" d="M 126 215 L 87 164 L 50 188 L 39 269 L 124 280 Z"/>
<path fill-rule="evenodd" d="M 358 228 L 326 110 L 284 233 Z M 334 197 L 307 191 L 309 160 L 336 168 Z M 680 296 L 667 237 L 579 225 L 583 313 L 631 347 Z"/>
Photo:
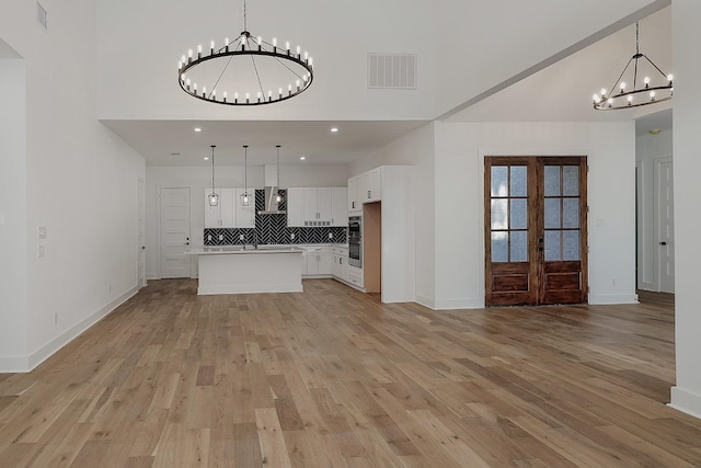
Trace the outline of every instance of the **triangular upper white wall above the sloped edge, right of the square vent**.
<path fill-rule="evenodd" d="M 552 65 L 551 57 L 590 35 L 602 38 L 605 33 L 599 32 L 617 19 L 646 7 L 655 11 L 665 4 L 668 1 L 588 0 L 567 2 L 563 8 L 561 0 L 434 1 L 433 65 L 440 70 L 433 82 L 434 116 Z M 519 75 L 531 67 L 536 69 Z M 559 84 L 551 81 L 547 85 L 551 91 Z M 548 99 L 541 96 L 539 103 L 543 101 L 547 103 Z M 524 109 L 516 101 L 510 105 Z"/>

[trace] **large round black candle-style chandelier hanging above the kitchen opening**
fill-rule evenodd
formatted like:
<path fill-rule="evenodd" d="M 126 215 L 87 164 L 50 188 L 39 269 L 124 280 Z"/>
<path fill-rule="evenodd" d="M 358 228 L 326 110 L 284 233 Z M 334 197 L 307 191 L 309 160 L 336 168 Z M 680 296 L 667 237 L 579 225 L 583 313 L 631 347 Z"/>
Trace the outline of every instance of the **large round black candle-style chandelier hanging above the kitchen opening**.
<path fill-rule="evenodd" d="M 233 41 L 215 41 L 209 52 L 189 49 L 177 62 L 177 82 L 193 98 L 226 105 L 262 105 L 302 93 L 313 80 L 313 58 L 289 42 L 278 47 L 248 30 L 243 1 L 243 32 Z M 199 88 L 198 88 L 199 84 Z"/>

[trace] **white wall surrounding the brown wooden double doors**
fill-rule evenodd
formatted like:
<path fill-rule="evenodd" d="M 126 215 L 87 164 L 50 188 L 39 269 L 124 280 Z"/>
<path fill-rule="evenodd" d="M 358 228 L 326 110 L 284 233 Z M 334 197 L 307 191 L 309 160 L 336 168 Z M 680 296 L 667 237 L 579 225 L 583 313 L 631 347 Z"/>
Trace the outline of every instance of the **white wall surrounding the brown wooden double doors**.
<path fill-rule="evenodd" d="M 438 123 L 436 308 L 484 306 L 484 156 L 501 155 L 588 157 L 589 303 L 635 301 L 633 122 Z"/>

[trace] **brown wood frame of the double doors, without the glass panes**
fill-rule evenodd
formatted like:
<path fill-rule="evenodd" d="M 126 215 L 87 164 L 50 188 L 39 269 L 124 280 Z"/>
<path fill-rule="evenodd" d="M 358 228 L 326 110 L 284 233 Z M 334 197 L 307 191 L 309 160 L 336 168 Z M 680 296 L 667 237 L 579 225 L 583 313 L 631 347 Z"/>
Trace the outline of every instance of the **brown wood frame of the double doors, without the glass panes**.
<path fill-rule="evenodd" d="M 504 276 L 524 276 L 528 274 L 528 290 L 514 293 L 504 304 L 495 304 L 493 297 L 494 262 L 492 260 L 492 184 L 491 168 L 494 165 L 526 165 L 528 168 L 528 262 L 498 263 L 499 273 Z M 545 165 L 577 165 L 579 167 L 578 198 L 579 198 L 579 260 L 576 261 L 545 261 L 544 260 L 544 180 Z M 588 297 L 588 164 L 586 156 L 485 156 L 483 161 L 484 176 L 482 178 L 484 190 L 484 286 L 485 304 L 489 305 L 519 305 L 519 304 L 559 304 L 559 303 L 586 303 Z M 489 181 L 487 181 L 489 178 Z M 561 181 L 562 183 L 562 181 Z M 560 195 L 562 199 L 567 196 Z M 551 197 L 552 198 L 552 197 Z M 510 199 L 509 196 L 506 199 Z M 567 229 L 562 227 L 561 231 Z M 510 231 L 510 230 L 509 230 Z M 525 264 L 528 264 L 525 266 Z M 576 269 L 578 266 L 578 270 Z M 567 273 L 577 270 L 579 292 L 577 295 L 570 289 L 567 293 L 552 290 L 547 286 L 556 278 L 566 278 Z M 570 274 L 572 278 L 572 275 Z M 521 286 L 522 287 L 522 286 Z M 574 299 L 573 299 L 574 297 Z M 504 300 L 504 298 L 501 298 Z M 508 304 L 506 304 L 508 303 Z"/>

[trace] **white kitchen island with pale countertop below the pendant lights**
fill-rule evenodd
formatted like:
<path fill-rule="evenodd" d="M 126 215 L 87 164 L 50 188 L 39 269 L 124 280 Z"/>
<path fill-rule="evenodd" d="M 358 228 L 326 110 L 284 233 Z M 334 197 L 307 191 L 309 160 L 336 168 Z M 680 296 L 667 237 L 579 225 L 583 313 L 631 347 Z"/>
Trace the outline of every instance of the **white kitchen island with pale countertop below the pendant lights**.
<path fill-rule="evenodd" d="M 198 295 L 301 293 L 302 250 L 296 247 L 205 247 L 197 255 Z"/>

